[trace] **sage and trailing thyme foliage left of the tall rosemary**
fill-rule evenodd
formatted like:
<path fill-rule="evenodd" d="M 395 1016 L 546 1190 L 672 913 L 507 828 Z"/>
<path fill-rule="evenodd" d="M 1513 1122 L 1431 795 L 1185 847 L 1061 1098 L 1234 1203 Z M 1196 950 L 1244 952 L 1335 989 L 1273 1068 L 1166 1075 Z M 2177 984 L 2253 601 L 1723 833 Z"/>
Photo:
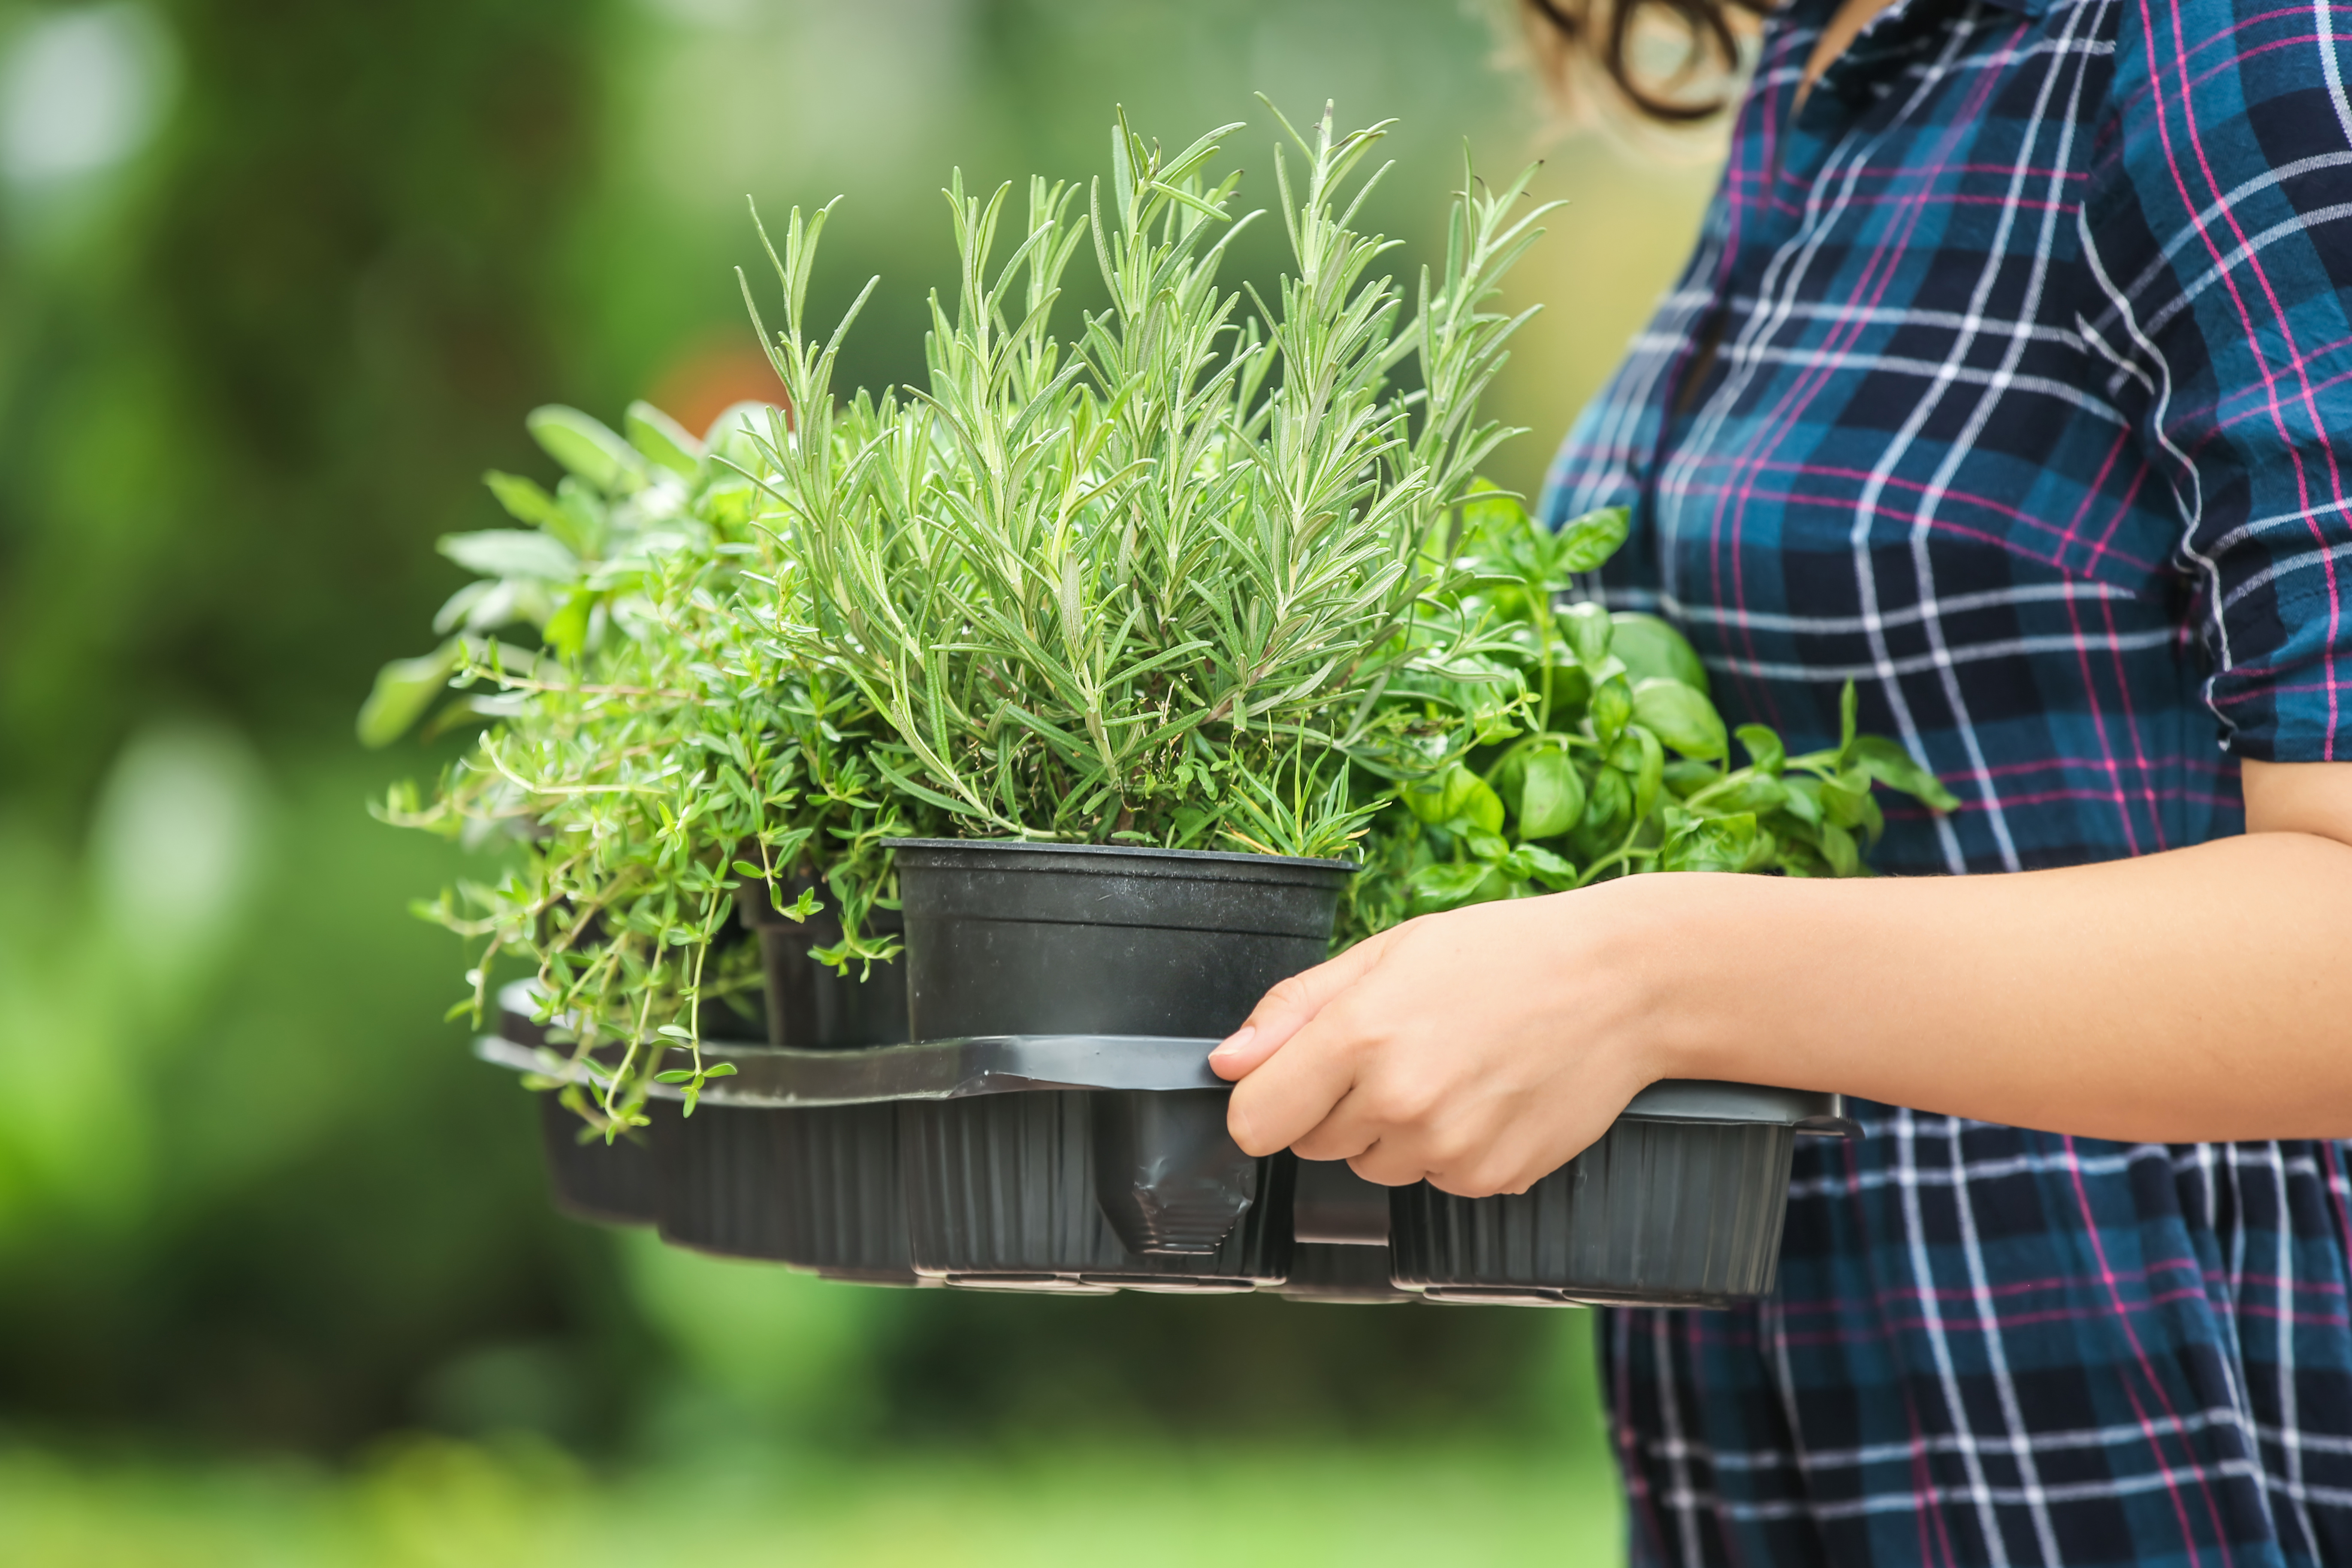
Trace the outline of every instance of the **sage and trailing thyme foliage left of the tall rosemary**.
<path fill-rule="evenodd" d="M 402 785 L 381 816 L 513 844 L 499 879 L 421 912 L 482 940 L 454 1011 L 482 1013 L 501 954 L 536 966 L 593 1081 L 562 1093 L 607 1135 L 644 1119 L 656 1077 L 684 1084 L 691 1112 L 731 1072 L 703 1060 L 701 1030 L 757 985 L 750 945 L 720 940 L 739 884 L 804 919 L 826 907 L 821 877 L 844 940 L 816 957 L 896 952 L 863 919 L 887 893 L 880 842 L 910 820 L 863 757 L 873 715 L 856 691 L 793 661 L 755 609 L 790 590 L 793 564 L 741 475 L 753 416 L 729 411 L 706 444 L 647 404 L 626 437 L 574 409 L 532 414 L 569 475 L 553 496 L 489 475 L 524 527 L 442 541 L 482 578 L 442 609 L 449 642 L 388 665 L 360 715 L 383 743 L 456 686 L 433 724 L 489 719 L 430 802 Z M 515 623 L 543 651 L 496 639 Z M 666 1070 L 666 1048 L 691 1065 Z"/>

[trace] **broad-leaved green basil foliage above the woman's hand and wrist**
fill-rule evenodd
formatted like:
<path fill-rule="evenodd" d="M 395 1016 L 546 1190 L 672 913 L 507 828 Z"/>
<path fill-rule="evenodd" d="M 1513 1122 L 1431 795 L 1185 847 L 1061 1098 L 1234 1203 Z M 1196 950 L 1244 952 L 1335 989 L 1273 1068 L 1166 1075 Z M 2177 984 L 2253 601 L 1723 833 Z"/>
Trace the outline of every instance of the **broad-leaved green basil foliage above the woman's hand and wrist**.
<path fill-rule="evenodd" d="M 1454 731 L 1468 752 L 1381 809 L 1348 938 L 1632 872 L 1856 877 L 1884 830 L 1872 783 L 1936 811 L 1959 804 L 1900 745 L 1856 733 L 1851 682 L 1839 743 L 1790 757 L 1762 724 L 1726 731 L 1698 654 L 1665 621 L 1562 609 L 1576 574 L 1625 541 L 1623 510 L 1559 531 L 1501 491 L 1463 510 L 1468 590 L 1449 614 L 1484 632 L 1456 665 L 1479 684 L 1430 712 L 1468 715 Z M 1733 741 L 1745 766 L 1731 766 Z"/>

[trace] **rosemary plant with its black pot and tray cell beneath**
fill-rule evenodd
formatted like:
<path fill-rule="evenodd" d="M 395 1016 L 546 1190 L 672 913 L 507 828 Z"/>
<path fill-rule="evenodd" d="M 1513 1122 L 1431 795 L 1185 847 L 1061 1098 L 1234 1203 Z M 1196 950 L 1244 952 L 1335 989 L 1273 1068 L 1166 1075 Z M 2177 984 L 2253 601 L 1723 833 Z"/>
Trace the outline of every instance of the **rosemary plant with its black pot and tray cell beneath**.
<path fill-rule="evenodd" d="M 1376 273 L 1388 244 L 1350 226 L 1383 127 L 1284 122 L 1291 275 L 1244 296 L 1218 282 L 1237 179 L 1209 174 L 1232 129 L 1167 155 L 1122 120 L 1084 214 L 1033 181 L 1004 261 L 1011 190 L 957 179 L 960 284 L 906 395 L 833 395 L 840 329 L 818 341 L 802 308 L 823 214 L 795 212 L 771 249 L 795 423 L 767 421 L 764 482 L 804 562 L 779 639 L 870 705 L 875 769 L 957 835 L 894 844 L 915 1039 L 1232 1030 L 1329 952 L 1374 809 L 1348 757 L 1378 750 L 1390 682 L 1449 656 L 1421 609 L 1505 435 L 1477 397 L 1519 322 L 1489 301 L 1543 209 L 1517 212 L 1526 176 L 1489 190 L 1465 169 L 1446 266 L 1406 301 Z M 1110 306 L 1070 322 L 1080 252 Z M 1289 1161 L 1242 1159 L 1216 1091 L 906 1117 L 927 1272 L 1284 1272 Z M 1145 1145 L 1197 1157 L 1185 1192 L 1124 1180 Z"/>

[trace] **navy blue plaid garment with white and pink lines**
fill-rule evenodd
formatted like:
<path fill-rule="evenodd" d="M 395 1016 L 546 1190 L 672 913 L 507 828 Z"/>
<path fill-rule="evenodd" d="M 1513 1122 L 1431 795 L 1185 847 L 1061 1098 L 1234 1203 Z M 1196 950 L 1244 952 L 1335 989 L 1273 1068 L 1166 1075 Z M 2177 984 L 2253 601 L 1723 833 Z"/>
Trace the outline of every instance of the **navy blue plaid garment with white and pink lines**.
<path fill-rule="evenodd" d="M 1907 0 L 1792 113 L 1832 9 L 1545 512 L 1790 750 L 1860 684 L 1964 799 L 1882 870 L 2239 832 L 2352 759 L 2352 12 Z M 1606 1319 L 1637 1561 L 2352 1563 L 2345 1145 L 1858 1110 L 1771 1302 Z"/>

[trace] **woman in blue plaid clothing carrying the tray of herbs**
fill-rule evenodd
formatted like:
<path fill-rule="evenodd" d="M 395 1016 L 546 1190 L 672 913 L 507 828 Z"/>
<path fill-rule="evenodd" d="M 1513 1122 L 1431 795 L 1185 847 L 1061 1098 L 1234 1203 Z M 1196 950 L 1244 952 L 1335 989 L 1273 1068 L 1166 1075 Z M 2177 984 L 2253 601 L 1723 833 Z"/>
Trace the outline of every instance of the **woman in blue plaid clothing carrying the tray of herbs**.
<path fill-rule="evenodd" d="M 1738 717 L 1851 677 L 1964 809 L 1416 919 L 1214 1058 L 1247 1150 L 1472 1197 L 1651 1079 L 1863 1098 L 1773 1300 L 1606 1314 L 1637 1561 L 2352 1563 L 2347 82 L 2326 0 L 1769 16 L 1543 505 L 1632 505 L 1595 590 Z"/>

